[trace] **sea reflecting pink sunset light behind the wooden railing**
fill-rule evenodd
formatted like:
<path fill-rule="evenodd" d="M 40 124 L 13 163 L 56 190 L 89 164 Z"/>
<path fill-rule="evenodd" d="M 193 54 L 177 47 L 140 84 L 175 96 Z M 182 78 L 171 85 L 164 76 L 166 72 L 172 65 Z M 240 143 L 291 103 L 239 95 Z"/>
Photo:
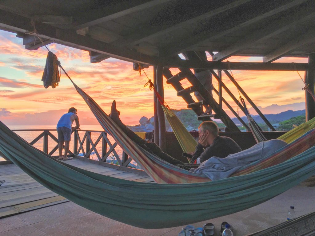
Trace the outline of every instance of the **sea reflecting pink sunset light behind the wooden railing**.
<path fill-rule="evenodd" d="M 25 130 L 25 131 L 14 131 L 16 134 L 18 134 L 19 136 L 21 136 L 24 140 L 26 140 L 27 142 L 31 142 L 33 141 L 35 138 L 37 138 L 38 135 L 40 135 L 43 130 L 49 130 L 50 133 L 52 133 L 52 135 L 54 135 L 57 138 L 57 131 L 56 126 L 55 125 L 8 125 L 8 127 L 11 130 Z M 83 136 L 85 134 L 85 131 L 83 130 L 90 130 L 91 131 L 91 139 L 93 141 L 93 143 L 95 143 L 95 141 L 98 139 L 98 137 L 100 136 L 100 132 L 97 131 L 103 131 L 103 128 L 100 125 L 81 125 L 80 126 L 81 130 L 78 131 L 79 133 L 79 137 L 81 139 L 81 141 L 83 140 Z M 93 132 L 94 131 L 94 132 Z M 107 138 L 108 140 L 111 142 L 111 144 L 113 145 L 115 143 L 115 140 L 112 138 L 112 136 L 107 134 Z M 48 152 L 50 152 L 55 146 L 57 145 L 57 142 L 55 142 L 51 137 L 48 137 Z M 35 144 L 33 144 L 34 147 L 38 148 L 39 150 L 43 151 L 43 137 L 38 140 Z M 83 147 L 85 149 L 85 141 L 83 143 Z M 78 148 L 79 148 L 79 143 L 78 143 Z M 91 146 L 92 148 L 92 146 Z M 109 150 L 109 145 L 107 145 L 107 152 Z M 73 134 L 71 136 L 71 141 L 70 141 L 70 147 L 69 150 L 73 152 Z M 96 145 L 96 150 L 97 152 L 100 154 L 102 154 L 102 139 L 99 141 L 99 143 Z M 120 159 L 122 158 L 123 155 L 123 150 L 117 145 L 114 149 L 116 151 L 116 153 L 118 154 L 118 156 L 120 157 Z M 58 156 L 58 149 L 54 152 L 54 154 L 52 154 L 52 156 Z M 82 150 L 80 150 L 79 155 L 83 155 Z M 93 150 L 91 155 L 90 155 L 91 159 L 94 160 L 99 160 L 97 155 L 95 154 L 95 151 Z M 4 160 L 3 158 L 0 157 L 0 161 Z M 116 163 L 117 160 L 114 158 L 113 152 L 109 155 L 109 157 L 107 158 L 107 162 L 112 162 L 112 163 Z M 131 161 L 131 167 L 136 168 L 136 163 L 134 161 Z"/>

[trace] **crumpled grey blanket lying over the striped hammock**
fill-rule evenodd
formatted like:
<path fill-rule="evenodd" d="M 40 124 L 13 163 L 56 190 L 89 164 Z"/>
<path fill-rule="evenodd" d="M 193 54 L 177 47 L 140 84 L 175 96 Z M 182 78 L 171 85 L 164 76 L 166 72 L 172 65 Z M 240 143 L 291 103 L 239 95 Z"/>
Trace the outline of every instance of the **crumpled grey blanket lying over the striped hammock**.
<path fill-rule="evenodd" d="M 211 157 L 200 164 L 197 169 L 191 169 L 198 174 L 204 174 L 211 180 L 224 179 L 243 166 L 266 158 L 288 143 L 278 139 L 260 142 L 239 153 L 228 155 L 226 158 Z"/>

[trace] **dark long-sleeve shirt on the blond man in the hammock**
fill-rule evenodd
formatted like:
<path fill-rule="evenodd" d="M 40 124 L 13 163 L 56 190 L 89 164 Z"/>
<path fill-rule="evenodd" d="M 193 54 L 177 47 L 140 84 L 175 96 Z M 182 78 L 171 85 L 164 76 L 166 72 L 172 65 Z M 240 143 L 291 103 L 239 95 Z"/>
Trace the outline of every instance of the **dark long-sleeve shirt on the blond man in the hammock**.
<path fill-rule="evenodd" d="M 200 159 L 200 163 L 203 163 L 210 157 L 226 158 L 228 155 L 238 153 L 240 151 L 242 151 L 242 149 L 236 142 L 234 142 L 234 140 L 229 137 L 218 136 L 215 138 L 213 143 L 205 149 L 203 149 L 203 146 L 198 143 L 196 151 L 192 155 L 191 163 L 194 163 L 198 157 Z"/>

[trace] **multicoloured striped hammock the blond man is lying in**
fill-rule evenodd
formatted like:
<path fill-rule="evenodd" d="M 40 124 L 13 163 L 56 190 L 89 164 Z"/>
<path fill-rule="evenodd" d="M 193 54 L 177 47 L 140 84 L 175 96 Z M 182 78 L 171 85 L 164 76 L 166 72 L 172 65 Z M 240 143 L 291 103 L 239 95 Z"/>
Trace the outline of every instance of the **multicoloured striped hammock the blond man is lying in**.
<path fill-rule="evenodd" d="M 73 82 L 72 82 L 73 83 Z M 74 87 L 77 92 L 82 96 L 87 103 L 96 119 L 106 132 L 108 132 L 117 144 L 135 161 L 142 169 L 157 183 L 197 183 L 211 181 L 204 175 L 196 174 L 187 170 L 183 170 L 177 166 L 169 164 L 155 155 L 146 152 L 138 145 L 136 145 L 129 137 L 115 124 L 111 118 L 97 105 L 97 103 L 89 97 L 82 89 L 80 89 L 75 83 Z M 277 163 L 277 160 L 284 162 L 315 144 L 315 130 L 311 130 L 296 141 L 288 144 L 278 152 L 273 153 L 271 156 L 266 157 L 260 161 L 253 162 L 244 166 L 241 170 L 242 175 L 253 172 L 253 168 L 262 169 L 271 167 Z M 266 164 L 262 164 L 264 160 L 268 161 Z M 250 167 L 250 168 L 249 168 Z M 248 168 L 248 169 L 247 169 Z M 237 174 L 237 173 L 236 173 Z"/>

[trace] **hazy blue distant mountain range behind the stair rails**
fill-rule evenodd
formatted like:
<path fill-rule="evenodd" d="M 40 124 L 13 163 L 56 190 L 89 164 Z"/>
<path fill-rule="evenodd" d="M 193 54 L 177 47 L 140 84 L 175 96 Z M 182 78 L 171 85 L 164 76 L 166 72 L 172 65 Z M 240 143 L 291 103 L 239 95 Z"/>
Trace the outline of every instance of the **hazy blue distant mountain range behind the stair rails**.
<path fill-rule="evenodd" d="M 267 114 L 265 117 L 271 124 L 276 124 L 284 120 L 288 120 L 289 118 L 305 115 L 305 110 L 292 111 L 288 110 L 285 112 L 280 112 L 278 114 Z M 262 118 L 259 115 L 252 116 L 256 123 L 264 123 Z M 241 117 L 245 122 L 247 122 L 246 116 Z M 241 124 L 238 118 L 232 118 L 232 121 L 235 124 Z"/>

